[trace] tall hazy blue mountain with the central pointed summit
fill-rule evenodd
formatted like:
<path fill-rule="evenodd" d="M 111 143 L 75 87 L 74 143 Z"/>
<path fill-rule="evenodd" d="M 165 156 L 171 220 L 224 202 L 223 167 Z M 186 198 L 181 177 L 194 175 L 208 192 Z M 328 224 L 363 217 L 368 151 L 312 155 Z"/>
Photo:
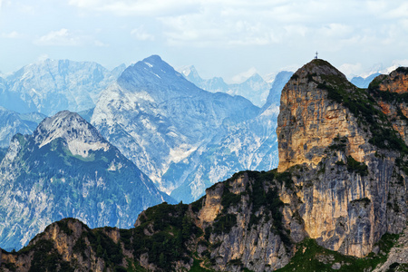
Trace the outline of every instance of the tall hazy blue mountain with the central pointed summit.
<path fill-rule="evenodd" d="M 172 162 L 188 159 L 224 128 L 259 111 L 243 97 L 199 89 L 152 56 L 126 69 L 102 92 L 91 121 L 160 189 L 170 191 L 178 184 L 160 184 L 160 177 Z"/>

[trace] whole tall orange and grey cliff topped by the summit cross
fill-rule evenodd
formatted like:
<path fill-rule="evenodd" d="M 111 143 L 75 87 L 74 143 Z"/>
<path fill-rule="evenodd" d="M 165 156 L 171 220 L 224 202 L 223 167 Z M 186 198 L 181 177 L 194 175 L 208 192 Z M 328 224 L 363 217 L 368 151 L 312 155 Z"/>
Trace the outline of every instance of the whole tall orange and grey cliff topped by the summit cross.
<path fill-rule="evenodd" d="M 373 97 L 314 60 L 292 76 L 280 107 L 277 170 L 294 175 L 307 235 L 364 257 L 385 232 L 401 232 L 406 145 Z"/>

